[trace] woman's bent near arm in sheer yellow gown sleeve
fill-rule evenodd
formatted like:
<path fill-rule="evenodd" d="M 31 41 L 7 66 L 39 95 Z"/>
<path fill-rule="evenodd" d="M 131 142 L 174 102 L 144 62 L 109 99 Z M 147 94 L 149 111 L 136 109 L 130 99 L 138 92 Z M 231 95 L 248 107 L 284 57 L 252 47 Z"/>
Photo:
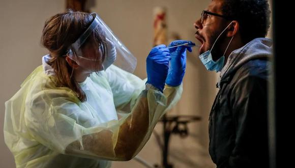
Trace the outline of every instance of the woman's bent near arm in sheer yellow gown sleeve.
<path fill-rule="evenodd" d="M 175 97 L 179 91 L 170 88 L 164 93 Z M 119 121 L 98 123 L 83 104 L 73 103 L 62 93 L 41 93 L 28 104 L 25 120 L 34 139 L 51 150 L 86 158 L 130 160 L 150 138 L 167 102 L 163 93 L 144 90 L 130 114 Z"/>

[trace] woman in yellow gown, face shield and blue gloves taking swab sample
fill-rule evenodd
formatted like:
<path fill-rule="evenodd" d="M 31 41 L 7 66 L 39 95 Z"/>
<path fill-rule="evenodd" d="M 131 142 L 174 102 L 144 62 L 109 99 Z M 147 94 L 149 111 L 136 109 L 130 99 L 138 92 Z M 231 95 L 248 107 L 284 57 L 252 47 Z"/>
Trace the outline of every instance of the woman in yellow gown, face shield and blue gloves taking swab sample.
<path fill-rule="evenodd" d="M 49 54 L 6 102 L 5 142 L 17 167 L 130 160 L 181 96 L 188 46 L 154 47 L 145 81 L 130 73 L 135 58 L 96 13 L 52 16 L 41 41 Z"/>

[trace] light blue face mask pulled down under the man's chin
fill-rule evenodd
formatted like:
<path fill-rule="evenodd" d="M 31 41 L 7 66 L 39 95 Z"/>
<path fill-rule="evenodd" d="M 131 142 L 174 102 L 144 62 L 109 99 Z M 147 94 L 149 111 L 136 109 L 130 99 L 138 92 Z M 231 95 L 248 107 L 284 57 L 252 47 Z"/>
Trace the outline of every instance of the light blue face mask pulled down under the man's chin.
<path fill-rule="evenodd" d="M 216 41 L 218 40 L 218 38 L 222 35 L 222 33 L 227 29 L 227 27 L 228 27 L 231 23 L 232 23 L 232 22 L 230 22 L 230 23 L 225 27 L 225 29 L 220 33 L 220 35 L 217 37 L 217 39 L 215 40 L 215 42 L 214 42 L 214 44 L 213 44 L 211 50 L 208 50 L 208 51 L 206 51 L 206 52 L 204 52 L 204 53 L 202 53 L 202 54 L 199 55 L 199 58 L 200 58 L 201 62 L 204 64 L 204 66 L 206 67 L 206 69 L 209 70 L 209 71 L 214 71 L 214 70 L 215 70 L 216 72 L 219 72 L 219 71 L 222 70 L 222 68 L 223 68 L 223 66 L 224 66 L 224 60 L 225 60 L 224 54 L 225 54 L 225 52 L 226 52 L 226 50 L 227 50 L 227 48 L 228 48 L 228 46 L 229 46 L 231 40 L 233 39 L 233 36 L 232 36 L 232 38 L 230 39 L 230 41 L 229 41 L 229 43 L 228 43 L 228 45 L 227 45 L 227 47 L 226 47 L 226 49 L 225 49 L 225 51 L 224 51 L 224 53 L 223 53 L 223 56 L 220 57 L 216 62 L 213 61 L 213 59 L 212 59 L 212 53 L 211 53 L 211 51 L 212 51 L 212 49 L 213 49 L 213 47 L 214 47 Z"/>

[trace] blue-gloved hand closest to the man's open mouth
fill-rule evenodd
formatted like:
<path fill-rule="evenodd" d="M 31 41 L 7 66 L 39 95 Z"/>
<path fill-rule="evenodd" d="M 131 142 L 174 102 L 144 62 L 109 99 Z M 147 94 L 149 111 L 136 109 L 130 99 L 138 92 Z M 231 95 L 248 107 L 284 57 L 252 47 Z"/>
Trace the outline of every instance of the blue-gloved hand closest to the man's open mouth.
<path fill-rule="evenodd" d="M 175 45 L 181 45 L 189 43 L 187 46 L 182 45 L 179 47 L 173 47 L 169 48 L 169 52 L 171 54 L 171 61 L 170 61 L 170 66 L 169 66 L 169 71 L 168 71 L 168 76 L 166 78 L 166 84 L 171 86 L 171 87 L 176 87 L 181 85 L 185 70 L 186 70 L 186 49 L 188 51 L 192 51 L 191 46 L 194 46 L 195 43 L 191 41 L 185 41 L 185 40 L 176 40 L 172 41 L 168 47 L 172 47 Z"/>

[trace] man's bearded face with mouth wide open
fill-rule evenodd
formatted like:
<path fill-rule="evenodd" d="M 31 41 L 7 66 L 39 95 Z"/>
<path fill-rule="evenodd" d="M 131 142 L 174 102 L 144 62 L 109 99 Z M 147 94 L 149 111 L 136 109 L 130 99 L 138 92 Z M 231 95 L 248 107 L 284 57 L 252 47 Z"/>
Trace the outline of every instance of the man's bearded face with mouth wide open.
<path fill-rule="evenodd" d="M 222 0 L 213 0 L 208 8 L 205 9 L 205 11 L 222 15 L 222 2 Z M 198 39 L 201 43 L 201 47 L 199 48 L 200 54 L 212 48 L 219 34 L 225 29 L 225 23 L 226 20 L 224 18 L 210 14 L 203 14 L 203 19 L 199 18 L 195 22 L 195 28 L 197 30 L 195 38 Z M 221 52 L 220 43 L 222 43 L 222 41 L 224 40 L 224 34 L 225 33 L 223 33 L 223 35 L 218 39 L 217 43 L 214 46 L 213 52 L 218 53 L 214 55 L 219 55 L 219 52 Z M 213 60 L 217 59 L 218 58 L 213 58 Z"/>

